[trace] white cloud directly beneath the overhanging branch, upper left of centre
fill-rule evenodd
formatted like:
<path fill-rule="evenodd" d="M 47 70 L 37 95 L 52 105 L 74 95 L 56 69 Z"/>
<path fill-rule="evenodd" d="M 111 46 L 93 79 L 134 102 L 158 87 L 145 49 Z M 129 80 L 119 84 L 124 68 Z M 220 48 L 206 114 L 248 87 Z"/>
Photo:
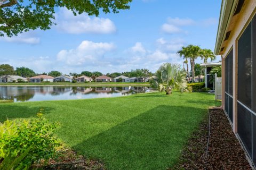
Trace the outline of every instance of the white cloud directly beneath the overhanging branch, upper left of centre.
<path fill-rule="evenodd" d="M 74 16 L 73 12 L 67 8 L 61 8 L 56 16 L 57 29 L 67 33 L 114 33 L 116 26 L 113 21 L 108 18 L 91 18 L 87 14 L 77 14 Z"/>

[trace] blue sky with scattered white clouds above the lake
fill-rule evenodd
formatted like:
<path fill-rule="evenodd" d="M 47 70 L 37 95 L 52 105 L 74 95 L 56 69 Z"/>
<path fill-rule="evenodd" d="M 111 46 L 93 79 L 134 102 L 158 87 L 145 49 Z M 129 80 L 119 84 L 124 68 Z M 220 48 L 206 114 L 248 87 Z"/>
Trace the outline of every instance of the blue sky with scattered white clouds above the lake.
<path fill-rule="evenodd" d="M 182 46 L 214 50 L 220 6 L 221 0 L 133 0 L 130 10 L 98 18 L 58 8 L 50 30 L 0 37 L 0 64 L 36 73 L 154 73 L 165 62 L 183 65 L 177 55 Z"/>

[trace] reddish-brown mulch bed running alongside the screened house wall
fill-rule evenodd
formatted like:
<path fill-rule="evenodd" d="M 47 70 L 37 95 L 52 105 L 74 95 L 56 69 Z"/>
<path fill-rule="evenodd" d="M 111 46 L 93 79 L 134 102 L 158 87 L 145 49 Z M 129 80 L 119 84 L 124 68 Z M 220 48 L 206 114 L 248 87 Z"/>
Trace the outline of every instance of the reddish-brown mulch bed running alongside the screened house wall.
<path fill-rule="evenodd" d="M 206 155 L 209 135 L 207 117 L 189 139 L 180 164 L 172 169 L 252 169 L 225 113 L 222 110 L 211 110 L 210 122 L 208 154 Z"/>

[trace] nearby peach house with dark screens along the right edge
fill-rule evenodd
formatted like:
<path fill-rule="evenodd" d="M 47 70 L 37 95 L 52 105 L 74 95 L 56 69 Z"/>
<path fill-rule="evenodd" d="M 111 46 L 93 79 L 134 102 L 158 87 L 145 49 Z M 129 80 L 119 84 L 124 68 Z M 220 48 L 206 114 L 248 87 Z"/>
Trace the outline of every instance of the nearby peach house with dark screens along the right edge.
<path fill-rule="evenodd" d="M 255 0 L 222 0 L 214 53 L 222 61 L 222 108 L 256 165 Z"/>

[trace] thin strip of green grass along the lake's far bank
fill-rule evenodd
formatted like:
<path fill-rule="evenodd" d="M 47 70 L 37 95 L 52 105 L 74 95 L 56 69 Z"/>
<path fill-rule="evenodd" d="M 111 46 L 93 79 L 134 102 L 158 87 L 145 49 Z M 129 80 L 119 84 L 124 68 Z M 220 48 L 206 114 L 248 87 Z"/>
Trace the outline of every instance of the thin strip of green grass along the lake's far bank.
<path fill-rule="evenodd" d="M 69 83 L 69 82 L 42 82 L 42 83 L 0 83 L 0 86 L 149 86 L 149 82 L 88 82 L 88 83 Z"/>

